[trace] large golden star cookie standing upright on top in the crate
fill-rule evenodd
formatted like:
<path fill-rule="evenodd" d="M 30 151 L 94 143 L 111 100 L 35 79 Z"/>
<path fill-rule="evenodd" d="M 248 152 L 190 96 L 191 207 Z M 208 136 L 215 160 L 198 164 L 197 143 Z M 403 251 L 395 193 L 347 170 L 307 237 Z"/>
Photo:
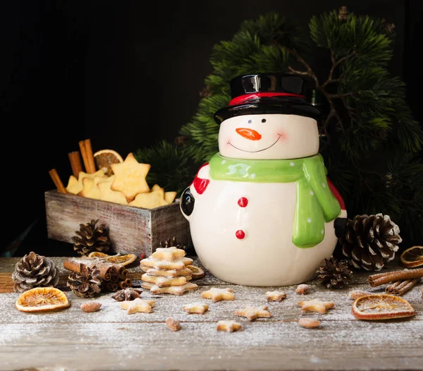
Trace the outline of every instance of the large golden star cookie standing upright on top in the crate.
<path fill-rule="evenodd" d="M 132 153 L 129 153 L 121 164 L 111 164 L 114 172 L 112 190 L 119 190 L 125 195 L 128 202 L 132 201 L 138 193 L 149 192 L 149 186 L 145 180 L 150 164 L 140 164 Z"/>

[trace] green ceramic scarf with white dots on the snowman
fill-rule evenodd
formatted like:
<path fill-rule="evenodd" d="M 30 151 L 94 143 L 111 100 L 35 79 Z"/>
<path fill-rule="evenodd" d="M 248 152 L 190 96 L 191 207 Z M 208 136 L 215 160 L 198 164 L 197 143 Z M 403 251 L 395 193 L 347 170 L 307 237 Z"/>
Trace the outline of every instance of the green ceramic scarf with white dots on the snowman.
<path fill-rule="evenodd" d="M 209 161 L 210 177 L 251 183 L 297 182 L 293 243 L 311 248 L 324 239 L 324 224 L 341 212 L 326 181 L 321 154 L 302 159 L 232 159 L 216 153 Z"/>

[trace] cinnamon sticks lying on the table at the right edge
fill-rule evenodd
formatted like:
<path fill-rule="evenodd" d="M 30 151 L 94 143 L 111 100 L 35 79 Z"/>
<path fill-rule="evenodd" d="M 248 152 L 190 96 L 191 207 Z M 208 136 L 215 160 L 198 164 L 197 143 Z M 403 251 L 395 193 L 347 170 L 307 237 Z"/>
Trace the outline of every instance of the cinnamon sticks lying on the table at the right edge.
<path fill-rule="evenodd" d="M 410 291 L 415 284 L 419 283 L 423 277 L 423 268 L 403 269 L 369 276 L 369 285 L 371 287 L 388 284 L 385 287 L 386 293 L 401 296 Z"/>

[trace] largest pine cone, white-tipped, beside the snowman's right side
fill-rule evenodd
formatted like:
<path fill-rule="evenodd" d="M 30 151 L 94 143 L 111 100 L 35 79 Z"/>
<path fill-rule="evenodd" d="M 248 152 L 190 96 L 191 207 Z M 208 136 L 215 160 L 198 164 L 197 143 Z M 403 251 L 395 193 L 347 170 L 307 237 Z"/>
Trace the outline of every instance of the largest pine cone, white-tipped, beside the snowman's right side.
<path fill-rule="evenodd" d="M 393 260 L 400 229 L 388 215 L 357 215 L 347 220 L 345 234 L 339 238 L 342 253 L 351 267 L 367 271 L 380 271 L 386 262 Z"/>

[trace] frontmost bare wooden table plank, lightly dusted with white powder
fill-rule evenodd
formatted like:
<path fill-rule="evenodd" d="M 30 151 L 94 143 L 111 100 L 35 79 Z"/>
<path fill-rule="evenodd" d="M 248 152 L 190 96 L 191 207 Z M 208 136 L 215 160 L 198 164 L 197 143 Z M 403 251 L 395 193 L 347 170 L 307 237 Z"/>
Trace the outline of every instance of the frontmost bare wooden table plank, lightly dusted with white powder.
<path fill-rule="evenodd" d="M 0 370 L 422 370 L 422 322 L 0 324 Z M 395 343 L 393 343 L 395 339 Z"/>

